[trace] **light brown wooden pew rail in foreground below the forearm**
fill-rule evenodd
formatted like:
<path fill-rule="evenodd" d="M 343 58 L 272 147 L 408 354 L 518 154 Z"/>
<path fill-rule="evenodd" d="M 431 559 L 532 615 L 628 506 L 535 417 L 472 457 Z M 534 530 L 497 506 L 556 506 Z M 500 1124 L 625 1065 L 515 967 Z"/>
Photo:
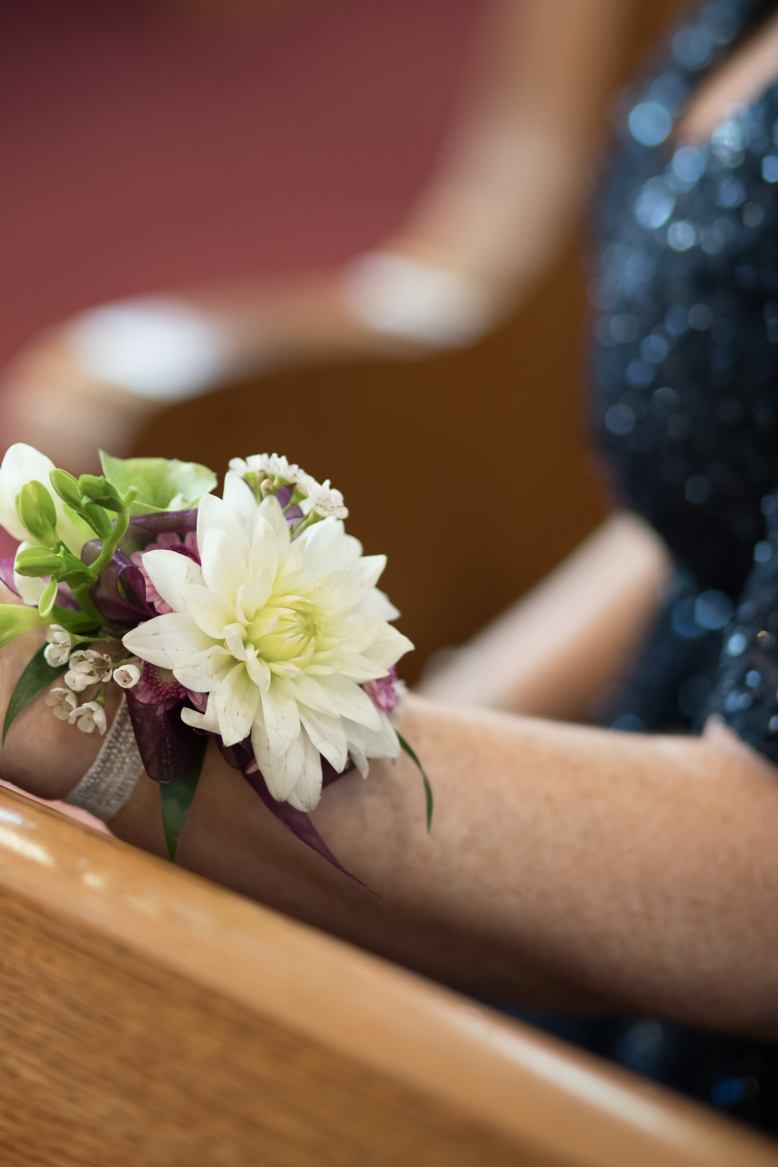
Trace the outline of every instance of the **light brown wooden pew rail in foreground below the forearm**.
<path fill-rule="evenodd" d="M 3 1167 L 768 1167 L 744 1130 L 0 790 Z"/>

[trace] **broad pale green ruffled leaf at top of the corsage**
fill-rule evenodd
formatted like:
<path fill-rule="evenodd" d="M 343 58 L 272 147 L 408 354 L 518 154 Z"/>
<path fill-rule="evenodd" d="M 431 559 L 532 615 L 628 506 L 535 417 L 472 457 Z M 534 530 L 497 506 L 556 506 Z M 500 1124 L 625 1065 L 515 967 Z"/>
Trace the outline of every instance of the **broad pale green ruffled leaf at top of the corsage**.
<path fill-rule="evenodd" d="M 180 462 L 177 457 L 112 457 L 100 450 L 100 463 L 103 474 L 120 495 L 131 487 L 138 488 L 138 497 L 129 508 L 132 515 L 187 510 L 217 483 L 206 466 Z"/>

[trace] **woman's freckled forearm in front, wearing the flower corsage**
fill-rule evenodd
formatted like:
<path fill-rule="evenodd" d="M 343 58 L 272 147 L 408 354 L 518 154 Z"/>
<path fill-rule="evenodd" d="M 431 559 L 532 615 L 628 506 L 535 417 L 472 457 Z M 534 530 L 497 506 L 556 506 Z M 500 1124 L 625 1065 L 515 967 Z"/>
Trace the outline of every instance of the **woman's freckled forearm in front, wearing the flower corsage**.
<path fill-rule="evenodd" d="M 402 732 L 435 790 L 429 836 L 407 760 L 346 775 L 314 813 L 379 895 L 288 834 L 216 750 L 180 861 L 493 1000 L 778 1034 L 772 767 L 745 747 L 414 698 Z M 162 853 L 153 784 L 111 826 Z"/>

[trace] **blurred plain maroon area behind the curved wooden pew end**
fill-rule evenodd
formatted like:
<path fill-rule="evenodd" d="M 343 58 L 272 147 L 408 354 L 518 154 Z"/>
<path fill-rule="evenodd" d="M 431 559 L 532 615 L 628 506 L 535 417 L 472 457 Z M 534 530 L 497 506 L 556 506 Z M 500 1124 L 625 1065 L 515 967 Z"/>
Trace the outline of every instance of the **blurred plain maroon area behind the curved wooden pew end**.
<path fill-rule="evenodd" d="M 483 4 L 0 0 L 0 365 L 100 300 L 374 244 L 433 168 Z"/>

